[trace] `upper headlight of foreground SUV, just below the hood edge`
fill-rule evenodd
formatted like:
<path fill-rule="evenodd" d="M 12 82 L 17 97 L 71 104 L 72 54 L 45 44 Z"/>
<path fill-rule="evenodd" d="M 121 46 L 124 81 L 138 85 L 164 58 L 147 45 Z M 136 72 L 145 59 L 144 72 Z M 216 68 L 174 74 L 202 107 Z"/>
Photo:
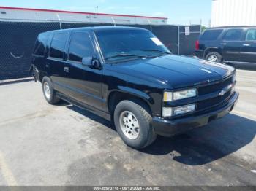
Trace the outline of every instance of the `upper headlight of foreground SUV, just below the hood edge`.
<path fill-rule="evenodd" d="M 182 90 L 182 91 L 176 91 L 176 92 L 165 92 L 163 101 L 173 101 L 173 100 L 179 100 L 184 98 L 192 98 L 197 95 L 197 89 L 192 88 L 188 90 Z"/>

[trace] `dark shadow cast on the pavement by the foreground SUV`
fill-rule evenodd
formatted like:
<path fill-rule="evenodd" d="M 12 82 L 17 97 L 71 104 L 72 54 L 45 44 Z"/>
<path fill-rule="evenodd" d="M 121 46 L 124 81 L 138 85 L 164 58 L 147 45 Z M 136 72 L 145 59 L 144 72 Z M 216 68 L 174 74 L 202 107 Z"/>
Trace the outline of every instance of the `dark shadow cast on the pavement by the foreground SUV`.
<path fill-rule="evenodd" d="M 91 112 L 76 106 L 67 108 L 102 123 L 111 130 L 116 130 L 112 122 Z M 203 165 L 236 152 L 249 144 L 255 138 L 255 134 L 256 121 L 228 114 L 222 119 L 185 134 L 173 137 L 158 136 L 154 144 L 139 152 L 148 155 L 168 155 L 185 165 Z"/>

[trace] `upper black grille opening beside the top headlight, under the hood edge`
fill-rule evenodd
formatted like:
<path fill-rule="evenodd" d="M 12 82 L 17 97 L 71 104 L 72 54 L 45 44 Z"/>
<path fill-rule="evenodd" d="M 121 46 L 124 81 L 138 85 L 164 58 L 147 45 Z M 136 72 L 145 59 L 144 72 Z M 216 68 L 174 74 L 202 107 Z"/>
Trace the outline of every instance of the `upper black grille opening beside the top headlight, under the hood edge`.
<path fill-rule="evenodd" d="M 225 79 L 222 82 L 217 82 L 213 85 L 206 85 L 198 88 L 198 95 L 205 95 L 208 93 L 214 93 L 232 84 L 232 77 Z"/>

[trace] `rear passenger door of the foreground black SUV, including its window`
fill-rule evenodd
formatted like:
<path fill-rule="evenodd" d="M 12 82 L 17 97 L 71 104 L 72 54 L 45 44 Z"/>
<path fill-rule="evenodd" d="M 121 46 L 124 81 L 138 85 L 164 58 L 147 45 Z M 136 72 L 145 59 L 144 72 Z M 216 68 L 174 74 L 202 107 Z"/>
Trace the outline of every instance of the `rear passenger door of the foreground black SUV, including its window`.
<path fill-rule="evenodd" d="M 51 43 L 48 58 L 46 61 L 46 67 L 50 74 L 50 79 L 53 82 L 54 89 L 61 93 L 65 93 L 65 48 L 67 39 L 69 38 L 69 32 L 54 33 Z"/>

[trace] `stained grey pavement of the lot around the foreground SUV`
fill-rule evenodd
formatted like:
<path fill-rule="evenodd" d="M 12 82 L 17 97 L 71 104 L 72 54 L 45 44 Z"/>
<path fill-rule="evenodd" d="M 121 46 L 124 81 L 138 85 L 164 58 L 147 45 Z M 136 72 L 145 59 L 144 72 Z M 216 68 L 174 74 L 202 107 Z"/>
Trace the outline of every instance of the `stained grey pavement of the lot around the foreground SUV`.
<path fill-rule="evenodd" d="M 233 112 L 141 151 L 39 82 L 0 85 L 0 185 L 256 185 L 256 71 L 237 79 Z"/>

